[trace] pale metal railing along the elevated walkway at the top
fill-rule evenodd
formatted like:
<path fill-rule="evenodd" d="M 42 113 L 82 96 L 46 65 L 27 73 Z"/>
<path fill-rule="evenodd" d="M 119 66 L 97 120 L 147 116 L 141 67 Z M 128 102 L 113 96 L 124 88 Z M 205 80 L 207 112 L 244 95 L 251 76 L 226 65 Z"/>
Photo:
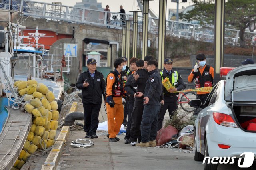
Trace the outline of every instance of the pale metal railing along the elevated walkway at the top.
<path fill-rule="evenodd" d="M 7 2 L 7 1 L 2 1 Z M 9 8 L 9 4 L 0 3 L 0 8 Z M 20 5 L 12 5 L 14 10 L 20 10 L 24 16 L 46 18 L 47 20 L 84 23 L 110 28 L 122 29 L 124 20 L 132 20 L 131 14 L 107 12 L 102 10 L 75 8 L 70 6 L 49 4 L 44 2 L 20 0 Z M 142 31 L 142 16 L 138 17 L 138 29 Z M 131 22 L 132 23 L 132 22 Z M 132 26 L 131 26 L 132 28 Z M 158 18 L 149 18 L 148 30 L 158 34 Z M 237 45 L 240 42 L 239 30 L 225 29 L 225 44 Z M 166 21 L 166 35 L 194 39 L 204 42 L 214 42 L 214 27 L 201 26 L 187 22 Z M 244 36 L 249 43 L 256 35 L 254 32 L 245 32 Z"/>

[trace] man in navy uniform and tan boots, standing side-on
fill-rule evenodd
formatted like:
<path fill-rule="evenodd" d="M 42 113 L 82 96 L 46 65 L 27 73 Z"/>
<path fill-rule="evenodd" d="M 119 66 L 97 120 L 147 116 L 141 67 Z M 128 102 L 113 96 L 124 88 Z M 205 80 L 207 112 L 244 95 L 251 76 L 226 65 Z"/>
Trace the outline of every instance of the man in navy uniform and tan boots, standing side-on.
<path fill-rule="evenodd" d="M 157 119 L 160 112 L 160 99 L 162 95 L 162 80 L 157 71 L 158 62 L 148 61 L 148 80 L 144 93 L 144 109 L 140 124 L 141 142 L 140 147 L 155 147 L 157 134 Z"/>

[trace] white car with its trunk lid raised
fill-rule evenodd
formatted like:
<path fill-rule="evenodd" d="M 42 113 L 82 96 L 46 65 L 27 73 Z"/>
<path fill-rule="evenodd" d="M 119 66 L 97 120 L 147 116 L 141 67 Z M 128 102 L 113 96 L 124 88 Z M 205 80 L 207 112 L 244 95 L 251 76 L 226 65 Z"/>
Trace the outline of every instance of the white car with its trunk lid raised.
<path fill-rule="evenodd" d="M 189 104 L 196 108 L 202 105 L 198 99 Z M 239 158 L 244 152 L 256 155 L 256 64 L 230 71 L 226 81 L 213 87 L 202 108 L 194 127 L 194 160 L 202 161 L 206 156 Z M 217 166 L 210 161 L 204 169 Z"/>

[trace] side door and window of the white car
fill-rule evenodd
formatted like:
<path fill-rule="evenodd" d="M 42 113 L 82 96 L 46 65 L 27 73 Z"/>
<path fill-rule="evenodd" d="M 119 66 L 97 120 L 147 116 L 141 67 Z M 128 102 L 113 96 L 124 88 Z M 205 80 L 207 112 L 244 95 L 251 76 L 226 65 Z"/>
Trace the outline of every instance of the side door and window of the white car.
<path fill-rule="evenodd" d="M 208 123 L 208 120 L 210 116 L 212 115 L 212 108 L 215 101 L 218 99 L 218 95 L 220 92 L 220 84 L 216 84 L 210 94 L 208 95 L 206 102 L 204 105 L 206 106 L 202 111 L 200 111 L 198 115 L 198 123 L 199 123 L 199 131 L 200 132 L 200 152 L 204 153 L 204 140 L 205 140 L 205 134 L 206 134 L 206 125 Z"/>

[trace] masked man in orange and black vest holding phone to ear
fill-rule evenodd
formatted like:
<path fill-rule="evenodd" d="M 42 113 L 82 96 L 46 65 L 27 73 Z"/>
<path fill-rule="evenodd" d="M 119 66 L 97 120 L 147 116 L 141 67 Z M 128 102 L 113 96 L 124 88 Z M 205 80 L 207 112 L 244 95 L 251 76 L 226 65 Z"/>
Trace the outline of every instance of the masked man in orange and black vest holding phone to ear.
<path fill-rule="evenodd" d="M 214 69 L 210 65 L 206 65 L 206 57 L 204 54 L 196 55 L 197 63 L 192 69 L 190 75 L 188 76 L 188 82 L 192 82 L 195 80 L 196 88 L 200 87 L 213 87 L 213 79 L 214 79 Z M 204 104 L 206 98 L 209 95 L 209 92 L 200 92 L 196 93 L 196 99 L 200 99 L 201 103 Z M 204 109 L 204 108 L 202 108 Z M 196 109 L 193 115 L 197 115 L 199 110 Z"/>

